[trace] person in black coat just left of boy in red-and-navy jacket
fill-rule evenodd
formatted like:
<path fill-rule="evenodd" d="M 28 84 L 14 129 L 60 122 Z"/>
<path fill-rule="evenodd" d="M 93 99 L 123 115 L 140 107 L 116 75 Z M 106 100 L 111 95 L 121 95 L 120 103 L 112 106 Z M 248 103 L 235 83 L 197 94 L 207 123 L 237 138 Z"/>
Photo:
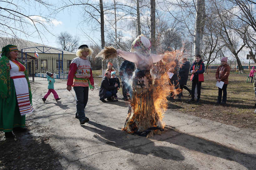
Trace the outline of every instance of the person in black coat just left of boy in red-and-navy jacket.
<path fill-rule="evenodd" d="M 181 89 L 181 94 L 183 91 L 183 88 L 186 89 L 189 92 L 189 96 L 191 95 L 191 90 L 186 86 L 187 85 L 187 79 L 188 79 L 188 73 L 189 73 L 190 63 L 187 61 L 187 58 L 182 58 L 182 65 L 180 66 L 180 69 L 178 71 L 179 73 L 179 85 Z M 182 95 L 183 96 L 183 95 Z"/>

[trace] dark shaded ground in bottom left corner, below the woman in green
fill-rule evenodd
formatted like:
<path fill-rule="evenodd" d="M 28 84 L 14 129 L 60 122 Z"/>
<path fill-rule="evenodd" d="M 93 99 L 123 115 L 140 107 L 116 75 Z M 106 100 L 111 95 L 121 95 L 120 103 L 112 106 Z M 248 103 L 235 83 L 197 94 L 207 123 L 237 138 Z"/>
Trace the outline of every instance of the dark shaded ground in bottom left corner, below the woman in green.
<path fill-rule="evenodd" d="M 63 169 L 59 155 L 47 143 L 47 136 L 37 136 L 29 129 L 14 134 L 14 139 L 5 139 L 4 133 L 0 134 L 0 169 Z"/>

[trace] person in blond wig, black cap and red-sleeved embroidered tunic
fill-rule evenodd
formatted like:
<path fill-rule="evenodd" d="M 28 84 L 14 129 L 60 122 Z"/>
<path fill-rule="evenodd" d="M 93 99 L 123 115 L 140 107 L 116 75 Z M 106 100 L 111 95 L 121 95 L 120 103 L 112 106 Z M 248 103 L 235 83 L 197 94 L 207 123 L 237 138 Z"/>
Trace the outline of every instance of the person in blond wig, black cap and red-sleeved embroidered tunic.
<path fill-rule="evenodd" d="M 71 86 L 75 91 L 76 113 L 75 118 L 78 118 L 80 124 L 89 121 L 85 116 L 84 108 L 88 102 L 89 87 L 94 90 L 94 79 L 92 76 L 91 63 L 87 56 L 91 56 L 93 50 L 87 45 L 81 45 L 76 52 L 76 58 L 73 58 L 69 67 L 69 75 L 67 81 L 67 90 L 71 90 Z"/>

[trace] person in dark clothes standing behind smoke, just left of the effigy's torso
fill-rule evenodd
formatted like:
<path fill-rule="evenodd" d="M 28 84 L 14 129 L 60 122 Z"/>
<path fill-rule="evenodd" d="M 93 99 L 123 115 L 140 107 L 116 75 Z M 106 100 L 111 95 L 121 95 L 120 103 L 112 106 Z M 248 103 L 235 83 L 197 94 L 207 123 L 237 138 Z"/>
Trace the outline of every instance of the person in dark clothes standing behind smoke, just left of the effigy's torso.
<path fill-rule="evenodd" d="M 132 62 L 124 59 L 124 61 L 120 65 L 119 70 L 119 75 L 122 80 L 122 92 L 124 96 L 122 99 L 128 100 L 127 93 L 130 94 L 130 98 L 132 96 L 131 81 L 132 72 L 134 71 L 134 65 Z"/>

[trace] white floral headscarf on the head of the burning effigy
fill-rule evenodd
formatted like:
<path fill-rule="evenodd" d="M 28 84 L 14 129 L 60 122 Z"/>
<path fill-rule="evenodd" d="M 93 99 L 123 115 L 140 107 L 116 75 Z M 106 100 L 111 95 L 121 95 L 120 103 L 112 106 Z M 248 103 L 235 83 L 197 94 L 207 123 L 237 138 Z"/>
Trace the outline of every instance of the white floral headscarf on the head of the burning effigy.
<path fill-rule="evenodd" d="M 139 52 L 144 55 L 150 55 L 150 47 L 150 40 L 141 34 L 133 41 L 130 52 Z"/>

